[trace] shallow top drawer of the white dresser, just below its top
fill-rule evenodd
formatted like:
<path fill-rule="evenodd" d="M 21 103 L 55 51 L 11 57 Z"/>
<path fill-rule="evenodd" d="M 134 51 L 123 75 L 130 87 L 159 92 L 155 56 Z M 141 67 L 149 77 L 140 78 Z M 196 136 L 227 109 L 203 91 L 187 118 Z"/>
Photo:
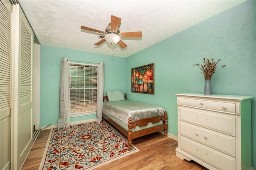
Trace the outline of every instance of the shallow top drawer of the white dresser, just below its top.
<path fill-rule="evenodd" d="M 236 104 L 220 101 L 206 101 L 197 99 L 179 98 L 179 105 L 186 105 L 189 107 L 198 107 L 202 109 L 222 111 L 225 113 L 236 113 Z"/>

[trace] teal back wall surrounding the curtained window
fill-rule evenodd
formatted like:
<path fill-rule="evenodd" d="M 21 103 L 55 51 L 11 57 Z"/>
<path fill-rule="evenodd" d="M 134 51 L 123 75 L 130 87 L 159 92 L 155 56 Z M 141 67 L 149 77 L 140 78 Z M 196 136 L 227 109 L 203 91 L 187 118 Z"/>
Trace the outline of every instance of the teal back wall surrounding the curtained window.
<path fill-rule="evenodd" d="M 104 62 L 106 90 L 125 92 L 125 58 L 41 45 L 40 53 L 40 127 L 58 124 L 60 65 L 62 57 L 70 61 Z M 118 63 L 118 64 L 117 64 Z M 70 122 L 95 119 L 96 115 L 71 118 Z"/>

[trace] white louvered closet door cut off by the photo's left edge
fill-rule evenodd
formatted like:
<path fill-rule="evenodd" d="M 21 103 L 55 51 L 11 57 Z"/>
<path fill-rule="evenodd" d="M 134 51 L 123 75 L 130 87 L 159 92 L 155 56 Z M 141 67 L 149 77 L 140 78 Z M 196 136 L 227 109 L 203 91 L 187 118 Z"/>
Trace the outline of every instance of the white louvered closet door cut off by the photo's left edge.
<path fill-rule="evenodd" d="M 10 170 L 12 5 L 0 1 L 0 169 Z"/>

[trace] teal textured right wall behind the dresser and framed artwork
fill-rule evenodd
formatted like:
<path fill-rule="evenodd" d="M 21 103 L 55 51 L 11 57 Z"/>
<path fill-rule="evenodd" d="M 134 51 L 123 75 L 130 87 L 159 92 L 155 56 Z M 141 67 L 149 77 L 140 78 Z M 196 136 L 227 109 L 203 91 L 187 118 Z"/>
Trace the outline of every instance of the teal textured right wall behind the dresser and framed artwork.
<path fill-rule="evenodd" d="M 256 169 L 256 1 L 246 1 L 126 58 L 129 100 L 168 112 L 168 133 L 177 136 L 176 93 L 204 93 L 204 77 L 192 66 L 203 57 L 221 59 L 213 94 L 250 95 L 252 160 Z M 131 68 L 155 63 L 155 95 L 131 93 Z M 226 64 L 226 67 L 220 66 Z"/>

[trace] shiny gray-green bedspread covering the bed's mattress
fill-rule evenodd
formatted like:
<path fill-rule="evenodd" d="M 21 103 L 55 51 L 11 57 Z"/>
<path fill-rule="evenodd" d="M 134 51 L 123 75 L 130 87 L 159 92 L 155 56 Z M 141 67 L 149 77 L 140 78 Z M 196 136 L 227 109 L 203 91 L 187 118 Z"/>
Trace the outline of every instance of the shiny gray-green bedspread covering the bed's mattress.
<path fill-rule="evenodd" d="M 138 119 L 164 115 L 162 107 L 136 103 L 133 101 L 112 101 L 103 102 L 103 111 L 116 117 L 128 125 L 128 119 L 131 117 L 132 122 Z"/>

